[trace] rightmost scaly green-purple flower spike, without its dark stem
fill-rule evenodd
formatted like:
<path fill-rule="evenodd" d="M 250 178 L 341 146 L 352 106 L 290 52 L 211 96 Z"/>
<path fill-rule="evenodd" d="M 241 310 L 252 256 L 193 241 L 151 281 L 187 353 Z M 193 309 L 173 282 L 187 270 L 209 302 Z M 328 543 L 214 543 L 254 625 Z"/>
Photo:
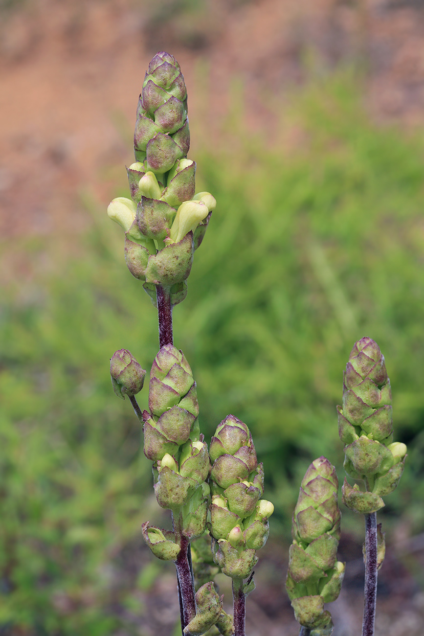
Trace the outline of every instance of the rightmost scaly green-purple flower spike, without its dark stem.
<path fill-rule="evenodd" d="M 382 508 L 384 495 L 399 483 L 406 446 L 393 443 L 392 392 L 385 359 L 377 343 L 361 338 L 353 346 L 343 375 L 343 406 L 338 406 L 339 435 L 345 444 L 345 470 L 359 485 L 345 480 L 343 501 L 359 513 Z"/>

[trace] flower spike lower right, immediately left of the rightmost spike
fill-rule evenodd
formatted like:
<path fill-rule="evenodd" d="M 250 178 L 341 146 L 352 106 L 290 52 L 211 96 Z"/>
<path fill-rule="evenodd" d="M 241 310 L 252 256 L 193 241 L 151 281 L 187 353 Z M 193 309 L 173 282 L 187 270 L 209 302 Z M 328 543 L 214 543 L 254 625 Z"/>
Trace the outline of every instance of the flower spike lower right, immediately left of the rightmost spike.
<path fill-rule="evenodd" d="M 322 633 L 331 626 L 324 603 L 336 600 L 345 573 L 345 564 L 336 557 L 340 537 L 337 491 L 334 466 L 325 457 L 315 459 L 302 480 L 292 524 L 287 593 L 296 620 Z"/>

